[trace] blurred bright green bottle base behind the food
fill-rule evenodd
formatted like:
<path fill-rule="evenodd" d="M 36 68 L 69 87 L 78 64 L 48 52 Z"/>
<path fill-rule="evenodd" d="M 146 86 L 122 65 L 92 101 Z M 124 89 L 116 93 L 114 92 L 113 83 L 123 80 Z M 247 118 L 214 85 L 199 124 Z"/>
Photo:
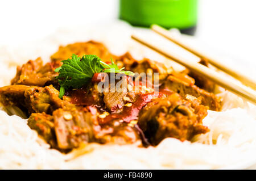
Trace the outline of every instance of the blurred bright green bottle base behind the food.
<path fill-rule="evenodd" d="M 159 24 L 193 35 L 197 23 L 197 0 L 119 0 L 119 18 L 133 26 Z"/>

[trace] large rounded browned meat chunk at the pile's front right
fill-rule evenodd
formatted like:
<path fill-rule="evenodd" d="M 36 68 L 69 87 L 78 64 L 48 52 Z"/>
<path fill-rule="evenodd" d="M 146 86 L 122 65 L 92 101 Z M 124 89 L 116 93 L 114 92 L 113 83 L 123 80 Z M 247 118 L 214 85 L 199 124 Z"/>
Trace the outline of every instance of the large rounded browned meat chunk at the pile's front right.
<path fill-rule="evenodd" d="M 195 106 L 195 105 L 194 105 Z M 139 112 L 138 125 L 152 145 L 164 138 L 174 137 L 181 141 L 191 140 L 196 134 L 209 131 L 202 120 L 207 116 L 207 107 L 195 111 L 191 103 L 177 93 L 165 99 L 148 103 Z"/>

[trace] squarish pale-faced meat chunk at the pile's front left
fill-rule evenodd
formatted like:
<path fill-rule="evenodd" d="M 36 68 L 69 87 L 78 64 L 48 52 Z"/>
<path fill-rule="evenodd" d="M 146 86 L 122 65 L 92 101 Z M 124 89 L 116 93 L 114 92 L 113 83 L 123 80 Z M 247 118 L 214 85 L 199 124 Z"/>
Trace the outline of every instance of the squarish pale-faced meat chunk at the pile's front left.
<path fill-rule="evenodd" d="M 57 146 L 59 149 L 73 149 L 81 143 L 93 140 L 93 121 L 97 115 L 71 109 L 58 109 L 53 112 Z"/>

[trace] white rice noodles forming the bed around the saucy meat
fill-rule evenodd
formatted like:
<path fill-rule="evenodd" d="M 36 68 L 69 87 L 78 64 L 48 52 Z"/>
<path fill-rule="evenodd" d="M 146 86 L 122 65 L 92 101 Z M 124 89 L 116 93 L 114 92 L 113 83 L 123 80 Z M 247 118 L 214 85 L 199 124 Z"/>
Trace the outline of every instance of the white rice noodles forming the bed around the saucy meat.
<path fill-rule="evenodd" d="M 129 50 L 136 58 L 146 56 L 165 61 L 132 42 L 129 37 L 133 29 L 127 24 L 114 23 L 108 27 L 111 28 L 66 28 L 36 44 L 5 47 L 0 52 L 0 86 L 9 85 L 16 65 L 37 56 L 47 62 L 60 44 L 75 41 L 93 39 L 106 44 L 114 54 Z M 219 95 L 224 100 L 223 110 L 208 111 L 203 123 L 210 132 L 194 137 L 193 142 L 166 138 L 147 149 L 138 148 L 137 144 L 89 144 L 67 155 L 49 149 L 26 120 L 0 111 L 0 169 L 241 169 L 256 161 L 256 107 L 228 91 Z"/>

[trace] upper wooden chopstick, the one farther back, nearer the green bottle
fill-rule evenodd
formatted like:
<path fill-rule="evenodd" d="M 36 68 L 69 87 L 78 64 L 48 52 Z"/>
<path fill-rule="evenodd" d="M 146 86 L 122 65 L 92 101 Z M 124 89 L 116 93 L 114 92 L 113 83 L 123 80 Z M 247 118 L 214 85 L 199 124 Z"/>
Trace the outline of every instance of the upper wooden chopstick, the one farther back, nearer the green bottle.
<path fill-rule="evenodd" d="M 226 66 L 223 62 L 216 60 L 216 58 L 210 56 L 209 54 L 206 54 L 204 52 L 196 50 L 195 48 L 191 47 L 190 45 L 185 44 L 184 41 L 180 37 L 172 35 L 172 33 L 170 31 L 164 29 L 163 27 L 153 24 L 151 26 L 151 29 L 154 32 L 158 33 L 159 35 L 166 37 L 168 40 L 171 40 L 172 42 L 179 45 L 180 47 L 195 54 L 196 56 L 203 58 L 204 60 L 208 60 L 210 62 L 210 64 L 212 64 L 216 68 L 218 68 L 218 69 L 224 71 L 225 73 L 231 75 L 232 77 L 238 79 L 244 85 L 250 86 L 251 88 L 256 90 L 256 81 L 254 79 L 251 79 L 250 77 L 243 75 L 242 73 L 238 72 L 237 70 L 234 70 L 231 67 Z"/>

